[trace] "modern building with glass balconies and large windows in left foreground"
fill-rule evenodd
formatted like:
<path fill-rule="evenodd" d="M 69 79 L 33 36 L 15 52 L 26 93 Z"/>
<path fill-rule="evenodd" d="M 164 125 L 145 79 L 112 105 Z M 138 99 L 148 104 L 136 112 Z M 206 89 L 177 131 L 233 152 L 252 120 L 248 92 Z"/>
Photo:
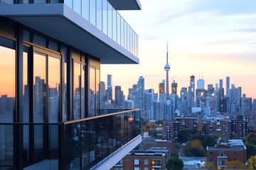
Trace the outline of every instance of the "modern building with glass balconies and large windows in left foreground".
<path fill-rule="evenodd" d="M 0 169 L 110 169 L 142 141 L 138 109 L 100 109 L 100 64 L 139 63 L 122 9 L 0 0 Z"/>

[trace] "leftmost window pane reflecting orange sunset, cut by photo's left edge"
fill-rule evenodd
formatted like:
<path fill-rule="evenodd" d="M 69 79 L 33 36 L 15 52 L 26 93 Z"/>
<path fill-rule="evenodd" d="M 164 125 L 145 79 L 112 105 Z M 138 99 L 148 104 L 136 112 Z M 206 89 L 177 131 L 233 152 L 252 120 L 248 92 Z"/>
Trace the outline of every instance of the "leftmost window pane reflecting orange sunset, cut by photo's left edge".
<path fill-rule="evenodd" d="M 0 122 L 14 121 L 15 90 L 15 50 L 14 41 L 0 36 Z"/>

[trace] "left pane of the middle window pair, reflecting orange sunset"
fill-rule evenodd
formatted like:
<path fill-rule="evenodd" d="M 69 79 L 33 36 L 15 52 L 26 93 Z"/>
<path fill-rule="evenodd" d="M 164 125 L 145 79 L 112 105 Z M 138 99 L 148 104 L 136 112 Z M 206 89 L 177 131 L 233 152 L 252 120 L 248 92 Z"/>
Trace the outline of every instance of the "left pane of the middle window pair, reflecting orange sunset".
<path fill-rule="evenodd" d="M 74 77 L 73 77 L 73 100 L 74 100 L 74 120 L 80 119 L 80 111 L 81 111 L 81 70 L 80 63 L 74 62 Z"/>

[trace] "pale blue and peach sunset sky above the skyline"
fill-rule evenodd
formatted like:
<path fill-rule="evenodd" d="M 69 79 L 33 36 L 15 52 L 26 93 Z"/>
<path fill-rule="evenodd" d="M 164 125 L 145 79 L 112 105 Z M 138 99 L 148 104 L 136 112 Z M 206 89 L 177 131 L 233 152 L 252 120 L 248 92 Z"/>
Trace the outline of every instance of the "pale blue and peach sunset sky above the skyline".
<path fill-rule="evenodd" d="M 145 89 L 159 92 L 166 79 L 166 44 L 169 50 L 169 84 L 189 86 L 189 79 L 230 86 L 256 98 L 256 1 L 140 0 L 141 11 L 118 11 L 139 36 L 139 64 L 102 64 L 101 81 L 128 89 L 144 77 Z M 171 89 L 171 87 L 169 87 Z M 114 90 L 114 88 L 113 88 Z"/>

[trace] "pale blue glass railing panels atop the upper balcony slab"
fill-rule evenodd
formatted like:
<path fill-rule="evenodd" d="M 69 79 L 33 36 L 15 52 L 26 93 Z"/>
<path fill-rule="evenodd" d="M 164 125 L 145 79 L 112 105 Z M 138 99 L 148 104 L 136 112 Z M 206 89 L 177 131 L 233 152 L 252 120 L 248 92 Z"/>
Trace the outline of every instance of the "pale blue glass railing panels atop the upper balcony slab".
<path fill-rule="evenodd" d="M 119 45 L 138 56 L 138 35 L 107 0 L 0 0 L 0 4 L 64 3 Z"/>

